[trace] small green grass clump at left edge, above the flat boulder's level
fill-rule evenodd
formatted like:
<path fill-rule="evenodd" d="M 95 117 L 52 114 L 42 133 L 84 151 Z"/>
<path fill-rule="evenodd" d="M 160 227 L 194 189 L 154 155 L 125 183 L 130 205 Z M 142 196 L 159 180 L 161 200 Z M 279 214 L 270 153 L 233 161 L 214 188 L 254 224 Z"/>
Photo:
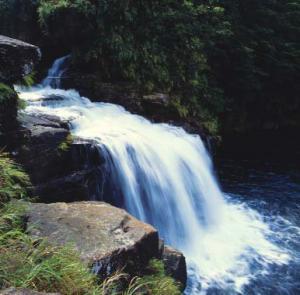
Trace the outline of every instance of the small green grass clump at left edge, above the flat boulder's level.
<path fill-rule="evenodd" d="M 0 152 L 0 207 L 11 199 L 26 198 L 29 186 L 29 177 L 23 169 L 8 154 Z"/>

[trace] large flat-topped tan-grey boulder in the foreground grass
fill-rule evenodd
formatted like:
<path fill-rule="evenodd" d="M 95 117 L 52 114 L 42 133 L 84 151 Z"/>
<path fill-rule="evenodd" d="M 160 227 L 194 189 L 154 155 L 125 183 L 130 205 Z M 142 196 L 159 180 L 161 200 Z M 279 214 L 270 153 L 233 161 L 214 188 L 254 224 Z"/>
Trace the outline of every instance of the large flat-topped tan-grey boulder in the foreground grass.
<path fill-rule="evenodd" d="M 152 226 L 104 202 L 30 204 L 26 218 L 31 236 L 73 244 L 102 277 L 123 268 L 138 272 L 159 255 Z"/>

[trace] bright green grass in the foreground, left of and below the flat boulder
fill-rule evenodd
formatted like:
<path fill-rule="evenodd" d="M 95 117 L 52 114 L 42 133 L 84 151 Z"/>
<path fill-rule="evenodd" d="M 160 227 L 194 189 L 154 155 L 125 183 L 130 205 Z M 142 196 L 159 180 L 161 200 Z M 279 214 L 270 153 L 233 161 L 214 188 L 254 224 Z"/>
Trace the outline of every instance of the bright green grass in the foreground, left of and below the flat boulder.
<path fill-rule="evenodd" d="M 0 290 L 30 288 L 60 294 L 180 294 L 165 275 L 161 261 L 152 260 L 141 277 L 118 272 L 105 281 L 91 273 L 70 246 L 56 247 L 26 233 L 24 214 L 29 201 L 28 175 L 0 152 Z"/>

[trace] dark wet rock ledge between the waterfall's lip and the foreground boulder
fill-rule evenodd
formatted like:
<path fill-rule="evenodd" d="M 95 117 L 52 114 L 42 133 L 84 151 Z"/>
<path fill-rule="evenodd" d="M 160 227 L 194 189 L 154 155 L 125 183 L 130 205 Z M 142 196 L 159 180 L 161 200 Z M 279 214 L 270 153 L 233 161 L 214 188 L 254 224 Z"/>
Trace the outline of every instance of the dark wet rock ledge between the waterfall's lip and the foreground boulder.
<path fill-rule="evenodd" d="M 19 161 L 42 202 L 96 199 L 101 190 L 101 161 L 93 143 L 72 138 L 68 124 L 55 116 L 19 114 Z"/>

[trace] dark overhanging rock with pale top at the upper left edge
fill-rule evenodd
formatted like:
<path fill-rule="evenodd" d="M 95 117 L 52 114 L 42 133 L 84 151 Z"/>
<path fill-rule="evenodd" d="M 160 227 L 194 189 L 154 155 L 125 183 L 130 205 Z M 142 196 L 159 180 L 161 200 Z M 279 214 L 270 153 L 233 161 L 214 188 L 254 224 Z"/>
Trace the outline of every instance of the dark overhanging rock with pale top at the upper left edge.
<path fill-rule="evenodd" d="M 40 57 L 38 47 L 0 35 L 0 81 L 13 83 L 30 74 Z"/>

